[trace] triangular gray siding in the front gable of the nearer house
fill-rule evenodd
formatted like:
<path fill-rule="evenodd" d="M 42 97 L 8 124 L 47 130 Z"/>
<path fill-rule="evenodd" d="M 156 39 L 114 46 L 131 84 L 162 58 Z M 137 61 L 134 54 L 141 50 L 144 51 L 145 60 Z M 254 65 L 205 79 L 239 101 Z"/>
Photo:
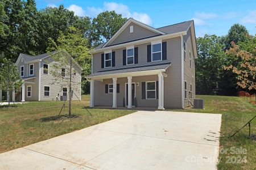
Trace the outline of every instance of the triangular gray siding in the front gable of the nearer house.
<path fill-rule="evenodd" d="M 133 33 L 130 33 L 130 26 L 133 25 Z M 159 35 L 159 33 L 150 31 L 140 25 L 135 23 L 130 23 L 109 45 L 118 44 L 121 42 L 142 39 L 148 36 Z"/>

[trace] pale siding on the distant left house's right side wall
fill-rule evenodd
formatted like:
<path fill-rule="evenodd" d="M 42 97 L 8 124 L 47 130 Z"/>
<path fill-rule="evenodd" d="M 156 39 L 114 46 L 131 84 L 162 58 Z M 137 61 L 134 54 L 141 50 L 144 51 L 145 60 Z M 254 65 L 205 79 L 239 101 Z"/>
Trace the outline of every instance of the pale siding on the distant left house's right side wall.
<path fill-rule="evenodd" d="M 52 64 L 53 64 L 53 59 L 52 58 L 47 58 L 44 59 L 41 62 L 41 83 L 40 83 L 40 100 L 41 101 L 52 101 L 56 100 L 56 96 L 59 94 L 59 99 L 60 96 L 63 96 L 63 88 L 67 88 L 69 91 L 69 88 L 65 86 L 65 83 L 61 82 L 61 78 L 59 78 L 56 82 L 55 76 L 51 74 L 51 70 L 53 69 Z M 43 73 L 43 64 L 46 63 L 48 64 L 48 74 Z M 81 71 L 78 67 L 75 67 L 77 73 L 73 78 L 73 81 L 76 83 L 73 86 L 73 90 L 75 94 L 73 95 L 72 100 L 80 100 L 81 99 Z M 61 71 L 61 70 L 60 70 Z M 67 75 L 68 73 L 66 73 Z M 44 96 L 44 86 L 49 86 L 50 87 L 50 95 L 49 96 Z"/>

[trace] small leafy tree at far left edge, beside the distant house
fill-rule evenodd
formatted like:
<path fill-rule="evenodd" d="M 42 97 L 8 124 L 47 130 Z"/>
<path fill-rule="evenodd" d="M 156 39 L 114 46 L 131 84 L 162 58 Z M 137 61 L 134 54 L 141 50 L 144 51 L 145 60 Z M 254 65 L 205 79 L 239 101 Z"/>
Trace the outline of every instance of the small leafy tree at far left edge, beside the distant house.
<path fill-rule="evenodd" d="M 22 85 L 22 79 L 19 77 L 19 72 L 16 65 L 7 58 L 1 56 L 0 67 L 0 89 L 7 91 L 10 106 L 10 92 Z"/>

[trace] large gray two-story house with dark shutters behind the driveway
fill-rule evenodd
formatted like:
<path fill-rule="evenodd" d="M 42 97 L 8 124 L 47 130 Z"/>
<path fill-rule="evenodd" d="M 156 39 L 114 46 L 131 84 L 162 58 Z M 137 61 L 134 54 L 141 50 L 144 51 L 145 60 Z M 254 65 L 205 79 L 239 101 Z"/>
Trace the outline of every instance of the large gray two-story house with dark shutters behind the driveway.
<path fill-rule="evenodd" d="M 94 49 L 90 107 L 184 108 L 195 99 L 193 20 L 152 28 L 134 19 Z"/>

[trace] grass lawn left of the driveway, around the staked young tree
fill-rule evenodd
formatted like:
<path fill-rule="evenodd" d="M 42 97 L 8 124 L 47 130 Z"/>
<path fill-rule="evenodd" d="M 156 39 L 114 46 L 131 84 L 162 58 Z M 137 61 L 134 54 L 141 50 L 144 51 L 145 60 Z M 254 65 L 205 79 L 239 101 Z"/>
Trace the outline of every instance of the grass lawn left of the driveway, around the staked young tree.
<path fill-rule="evenodd" d="M 135 111 L 114 109 L 88 109 L 89 95 L 82 96 L 82 101 L 72 101 L 72 112 L 77 118 L 56 117 L 63 105 L 57 101 L 33 101 L 17 104 L 15 107 L 0 108 L 0 152 L 6 152 L 56 137 L 71 131 L 100 124 L 113 118 Z M 68 103 L 66 103 L 68 106 Z M 65 108 L 67 114 L 68 108 Z"/>

